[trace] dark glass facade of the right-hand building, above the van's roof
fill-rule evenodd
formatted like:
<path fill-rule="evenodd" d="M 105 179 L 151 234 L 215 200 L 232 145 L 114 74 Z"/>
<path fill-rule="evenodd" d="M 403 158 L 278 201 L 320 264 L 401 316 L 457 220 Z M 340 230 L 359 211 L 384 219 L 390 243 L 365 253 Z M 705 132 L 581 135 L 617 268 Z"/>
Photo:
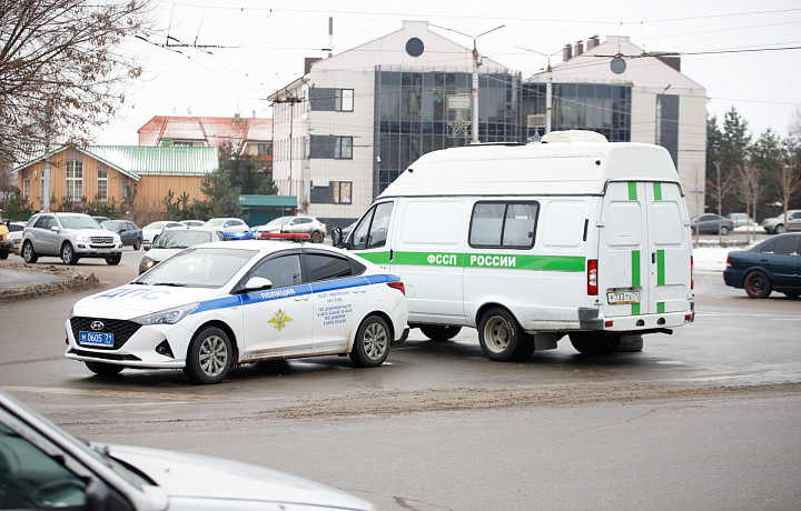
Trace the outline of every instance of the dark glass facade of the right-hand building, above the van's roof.
<path fill-rule="evenodd" d="M 540 140 L 545 133 L 546 83 L 524 83 L 521 88 L 526 139 Z M 610 142 L 631 141 L 631 86 L 604 83 L 553 83 L 551 130 L 596 131 Z"/>

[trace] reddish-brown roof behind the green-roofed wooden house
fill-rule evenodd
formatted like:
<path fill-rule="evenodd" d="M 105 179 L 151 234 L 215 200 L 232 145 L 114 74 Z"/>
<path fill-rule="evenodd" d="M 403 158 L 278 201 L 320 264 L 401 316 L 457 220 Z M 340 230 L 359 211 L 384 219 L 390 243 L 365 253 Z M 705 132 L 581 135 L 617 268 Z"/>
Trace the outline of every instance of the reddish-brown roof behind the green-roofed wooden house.
<path fill-rule="evenodd" d="M 241 150 L 246 142 L 273 140 L 273 119 L 156 116 L 139 128 L 138 133 L 139 146 L 180 140 L 205 142 L 215 148 L 231 142 L 236 150 Z"/>

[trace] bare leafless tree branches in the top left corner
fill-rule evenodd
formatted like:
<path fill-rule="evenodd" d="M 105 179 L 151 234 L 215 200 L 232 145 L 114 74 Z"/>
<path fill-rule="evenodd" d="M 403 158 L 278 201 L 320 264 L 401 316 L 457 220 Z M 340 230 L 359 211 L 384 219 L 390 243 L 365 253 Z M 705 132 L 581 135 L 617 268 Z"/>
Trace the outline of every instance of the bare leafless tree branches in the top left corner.
<path fill-rule="evenodd" d="M 141 74 L 120 43 L 150 0 L 0 0 L 0 164 L 20 146 L 88 141 Z"/>

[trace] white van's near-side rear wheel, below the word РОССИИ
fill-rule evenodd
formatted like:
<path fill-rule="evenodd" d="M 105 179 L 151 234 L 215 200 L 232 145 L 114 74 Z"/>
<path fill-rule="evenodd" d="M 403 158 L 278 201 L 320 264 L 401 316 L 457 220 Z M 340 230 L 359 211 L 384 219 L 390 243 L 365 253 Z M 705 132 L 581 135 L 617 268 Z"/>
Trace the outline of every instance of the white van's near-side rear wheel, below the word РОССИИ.
<path fill-rule="evenodd" d="M 493 307 L 478 323 L 478 341 L 490 360 L 512 362 L 534 352 L 534 337 L 524 332 L 506 309 Z"/>

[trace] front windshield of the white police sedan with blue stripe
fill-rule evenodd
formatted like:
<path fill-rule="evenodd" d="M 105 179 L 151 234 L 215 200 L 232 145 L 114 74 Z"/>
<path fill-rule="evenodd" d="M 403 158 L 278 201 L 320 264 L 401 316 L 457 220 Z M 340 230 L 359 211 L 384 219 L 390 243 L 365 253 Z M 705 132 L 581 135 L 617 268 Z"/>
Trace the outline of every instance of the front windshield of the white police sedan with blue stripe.
<path fill-rule="evenodd" d="M 219 288 L 257 252 L 222 248 L 187 249 L 144 273 L 134 282 L 146 285 Z"/>

